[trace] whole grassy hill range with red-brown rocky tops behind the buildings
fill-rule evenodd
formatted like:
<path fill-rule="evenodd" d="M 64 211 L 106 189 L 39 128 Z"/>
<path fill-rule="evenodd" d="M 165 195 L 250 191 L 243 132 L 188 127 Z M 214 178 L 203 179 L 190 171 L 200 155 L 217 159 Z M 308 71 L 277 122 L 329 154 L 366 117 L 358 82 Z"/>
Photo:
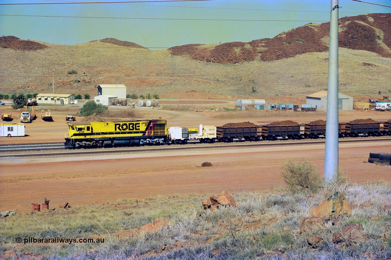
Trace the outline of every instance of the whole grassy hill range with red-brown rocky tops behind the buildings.
<path fill-rule="evenodd" d="M 391 94 L 391 14 L 339 19 L 340 92 Z M 303 97 L 327 88 L 329 23 L 310 23 L 272 39 L 191 44 L 151 51 L 113 38 L 54 45 L 0 37 L 0 93 L 95 95 L 98 84 L 127 93 L 189 98 Z M 68 74 L 70 70 L 76 74 Z"/>

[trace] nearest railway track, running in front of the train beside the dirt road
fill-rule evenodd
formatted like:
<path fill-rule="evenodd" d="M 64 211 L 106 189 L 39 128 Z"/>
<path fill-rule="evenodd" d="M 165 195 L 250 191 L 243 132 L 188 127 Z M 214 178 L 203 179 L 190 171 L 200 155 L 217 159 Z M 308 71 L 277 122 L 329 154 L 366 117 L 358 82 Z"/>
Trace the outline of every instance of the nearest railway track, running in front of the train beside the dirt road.
<path fill-rule="evenodd" d="M 349 142 L 384 142 L 384 141 L 391 141 L 391 138 L 382 138 L 382 139 L 366 139 L 366 140 L 340 140 L 340 143 L 349 143 Z M 159 148 L 144 148 L 144 149 L 132 149 L 132 150 L 101 150 L 99 148 L 94 148 L 94 151 L 86 151 L 83 149 L 80 150 L 68 150 L 68 152 L 62 152 L 62 153 L 31 153 L 31 154 L 7 154 L 7 155 L 0 155 L 0 157 L 33 157 L 33 156 L 56 156 L 56 155 L 92 155 L 92 154 L 99 154 L 99 153 L 137 153 L 137 152 L 146 152 L 146 151 L 174 151 L 174 150 L 188 150 L 188 149 L 218 149 L 218 148 L 248 148 L 248 147 L 257 147 L 257 146 L 296 146 L 296 145 L 305 145 L 305 144 L 324 144 L 325 141 L 307 141 L 307 142 L 271 142 L 271 143 L 251 143 L 246 142 L 246 144 L 232 144 L 232 145 L 217 145 L 217 146 L 198 146 L 198 147 L 191 147 L 191 146 L 182 146 L 178 145 L 178 147 L 162 147 L 158 146 Z"/>

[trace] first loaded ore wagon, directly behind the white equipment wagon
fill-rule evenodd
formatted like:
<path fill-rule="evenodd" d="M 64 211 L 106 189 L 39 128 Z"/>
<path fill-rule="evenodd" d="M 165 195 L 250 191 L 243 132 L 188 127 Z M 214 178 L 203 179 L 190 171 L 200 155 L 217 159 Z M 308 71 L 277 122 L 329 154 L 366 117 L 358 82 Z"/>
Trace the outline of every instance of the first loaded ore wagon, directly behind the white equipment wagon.
<path fill-rule="evenodd" d="M 227 123 L 216 127 L 216 136 L 218 141 L 232 142 L 233 139 L 244 139 L 249 141 L 258 141 L 257 125 L 250 122 Z"/>

